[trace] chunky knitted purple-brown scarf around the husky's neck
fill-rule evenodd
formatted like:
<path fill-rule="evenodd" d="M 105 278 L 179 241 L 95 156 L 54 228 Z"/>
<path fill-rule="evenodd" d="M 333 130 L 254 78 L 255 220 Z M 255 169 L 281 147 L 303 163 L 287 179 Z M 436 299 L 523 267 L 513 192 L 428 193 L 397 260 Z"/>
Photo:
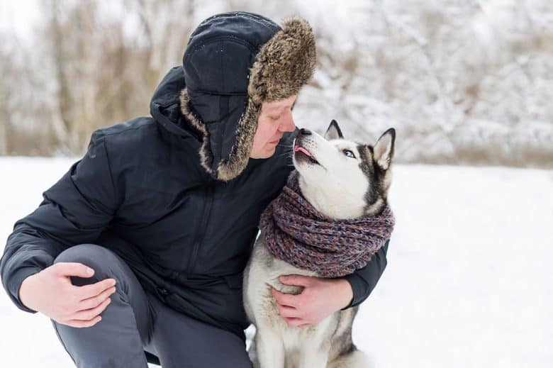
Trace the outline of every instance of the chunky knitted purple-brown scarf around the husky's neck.
<path fill-rule="evenodd" d="M 294 170 L 281 194 L 262 213 L 259 228 L 279 260 L 320 277 L 342 277 L 364 267 L 393 230 L 388 204 L 378 216 L 335 220 L 301 196 Z"/>

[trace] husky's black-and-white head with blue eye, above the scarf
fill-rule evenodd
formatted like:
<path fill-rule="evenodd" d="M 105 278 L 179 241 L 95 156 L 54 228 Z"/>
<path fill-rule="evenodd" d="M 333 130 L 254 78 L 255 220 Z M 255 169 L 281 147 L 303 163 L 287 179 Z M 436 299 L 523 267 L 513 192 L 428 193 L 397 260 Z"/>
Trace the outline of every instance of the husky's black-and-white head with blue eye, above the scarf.
<path fill-rule="evenodd" d="M 330 218 L 375 216 L 386 205 L 396 130 L 376 145 L 345 140 L 336 121 L 325 136 L 301 129 L 294 141 L 294 167 L 303 196 Z"/>

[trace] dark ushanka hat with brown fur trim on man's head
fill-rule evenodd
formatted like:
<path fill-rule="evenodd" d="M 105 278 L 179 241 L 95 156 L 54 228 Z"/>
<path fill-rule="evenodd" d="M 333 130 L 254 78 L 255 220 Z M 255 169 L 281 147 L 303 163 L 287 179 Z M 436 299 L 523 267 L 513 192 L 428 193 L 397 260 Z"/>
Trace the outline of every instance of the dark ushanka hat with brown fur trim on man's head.
<path fill-rule="evenodd" d="M 315 37 L 302 18 L 282 26 L 223 13 L 192 33 L 183 57 L 181 112 L 203 140 L 201 165 L 228 181 L 246 167 L 262 102 L 297 94 L 315 68 Z"/>

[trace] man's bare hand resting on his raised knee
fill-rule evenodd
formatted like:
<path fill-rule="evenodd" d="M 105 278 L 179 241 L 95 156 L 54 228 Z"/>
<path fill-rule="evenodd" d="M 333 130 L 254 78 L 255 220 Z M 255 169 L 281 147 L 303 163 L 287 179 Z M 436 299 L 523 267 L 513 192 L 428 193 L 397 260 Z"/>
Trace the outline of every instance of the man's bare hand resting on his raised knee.
<path fill-rule="evenodd" d="M 94 269 L 82 263 L 59 262 L 33 274 L 21 283 L 19 298 L 33 311 L 72 327 L 91 327 L 101 320 L 100 313 L 116 291 L 114 279 L 74 286 L 72 276 L 89 278 Z"/>

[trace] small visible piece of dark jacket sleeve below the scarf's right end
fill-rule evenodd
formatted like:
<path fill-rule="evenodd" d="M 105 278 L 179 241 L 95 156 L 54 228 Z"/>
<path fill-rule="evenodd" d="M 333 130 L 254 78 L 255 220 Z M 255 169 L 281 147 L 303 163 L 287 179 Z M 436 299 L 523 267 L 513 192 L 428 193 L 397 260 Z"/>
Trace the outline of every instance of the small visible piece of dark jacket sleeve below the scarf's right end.
<path fill-rule="evenodd" d="M 386 253 L 388 253 L 389 242 L 390 240 L 386 240 L 384 246 L 374 254 L 365 267 L 356 269 L 354 273 L 344 277 L 350 282 L 353 291 L 352 302 L 346 308 L 362 303 L 373 291 L 388 263 L 386 261 Z"/>

